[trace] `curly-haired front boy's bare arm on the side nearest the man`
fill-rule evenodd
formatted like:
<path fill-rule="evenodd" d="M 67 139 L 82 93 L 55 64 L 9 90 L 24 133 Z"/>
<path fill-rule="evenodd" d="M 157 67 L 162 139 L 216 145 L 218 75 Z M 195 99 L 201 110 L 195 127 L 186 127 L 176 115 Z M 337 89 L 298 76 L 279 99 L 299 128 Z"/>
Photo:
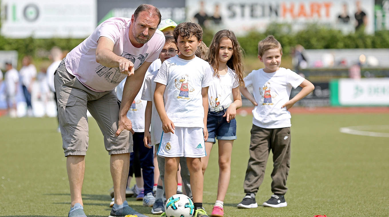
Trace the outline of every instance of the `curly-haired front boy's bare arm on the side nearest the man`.
<path fill-rule="evenodd" d="M 154 103 L 157 109 L 158 115 L 162 121 L 162 130 L 164 133 L 172 132 L 174 134 L 174 123 L 168 118 L 166 114 L 165 105 L 163 104 L 163 92 L 165 92 L 166 85 L 156 83 L 154 92 Z"/>

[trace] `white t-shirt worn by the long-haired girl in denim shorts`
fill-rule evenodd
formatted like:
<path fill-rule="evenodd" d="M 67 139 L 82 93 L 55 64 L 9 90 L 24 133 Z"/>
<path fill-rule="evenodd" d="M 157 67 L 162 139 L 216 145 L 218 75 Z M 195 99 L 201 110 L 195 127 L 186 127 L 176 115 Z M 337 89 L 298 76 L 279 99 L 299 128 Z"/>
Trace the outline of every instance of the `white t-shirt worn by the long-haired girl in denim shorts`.
<path fill-rule="evenodd" d="M 214 73 L 213 68 L 212 73 Z M 226 108 L 232 103 L 232 89 L 239 86 L 235 75 L 235 71 L 227 67 L 226 75 L 220 75 L 219 78 L 216 75 L 212 76 L 212 84 L 208 89 L 209 108 L 222 108 L 222 106 Z"/>

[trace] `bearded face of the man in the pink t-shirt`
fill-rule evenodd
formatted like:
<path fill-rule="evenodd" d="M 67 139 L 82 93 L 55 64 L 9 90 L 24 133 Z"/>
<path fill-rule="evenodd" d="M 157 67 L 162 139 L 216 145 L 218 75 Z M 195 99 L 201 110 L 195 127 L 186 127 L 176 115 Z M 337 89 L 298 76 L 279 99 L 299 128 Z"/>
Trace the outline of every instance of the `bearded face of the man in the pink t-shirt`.
<path fill-rule="evenodd" d="M 157 30 L 159 18 L 158 16 L 150 16 L 147 11 L 142 11 L 138 14 L 137 19 L 134 15 L 131 17 L 132 34 L 138 43 L 145 44 L 154 35 Z"/>

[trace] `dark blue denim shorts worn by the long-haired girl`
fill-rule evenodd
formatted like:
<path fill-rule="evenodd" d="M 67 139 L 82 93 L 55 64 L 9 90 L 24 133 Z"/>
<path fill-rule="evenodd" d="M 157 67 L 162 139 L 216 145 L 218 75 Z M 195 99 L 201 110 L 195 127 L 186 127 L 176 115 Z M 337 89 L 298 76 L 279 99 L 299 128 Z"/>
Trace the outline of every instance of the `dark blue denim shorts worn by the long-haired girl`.
<path fill-rule="evenodd" d="M 234 140 L 237 139 L 237 120 L 232 119 L 227 122 L 227 117 L 223 117 L 227 109 L 223 111 L 208 111 L 207 129 L 208 140 L 206 142 L 215 143 L 217 140 Z"/>

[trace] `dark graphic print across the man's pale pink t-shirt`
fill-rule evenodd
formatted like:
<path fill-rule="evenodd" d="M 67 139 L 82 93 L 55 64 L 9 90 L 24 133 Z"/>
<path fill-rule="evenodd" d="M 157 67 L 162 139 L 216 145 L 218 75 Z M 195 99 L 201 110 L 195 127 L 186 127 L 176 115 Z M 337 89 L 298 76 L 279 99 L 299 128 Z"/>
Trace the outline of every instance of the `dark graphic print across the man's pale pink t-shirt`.
<path fill-rule="evenodd" d="M 145 62 L 147 56 L 149 56 L 149 54 L 145 53 L 139 54 L 138 56 L 134 56 L 127 52 L 123 52 L 121 56 L 130 60 L 134 64 L 134 68 L 137 68 L 135 66 L 142 65 Z M 110 68 L 103 65 L 98 66 L 95 71 L 98 76 L 103 77 L 107 82 L 114 84 L 119 84 L 127 76 L 123 73 L 120 73 L 119 68 Z"/>

